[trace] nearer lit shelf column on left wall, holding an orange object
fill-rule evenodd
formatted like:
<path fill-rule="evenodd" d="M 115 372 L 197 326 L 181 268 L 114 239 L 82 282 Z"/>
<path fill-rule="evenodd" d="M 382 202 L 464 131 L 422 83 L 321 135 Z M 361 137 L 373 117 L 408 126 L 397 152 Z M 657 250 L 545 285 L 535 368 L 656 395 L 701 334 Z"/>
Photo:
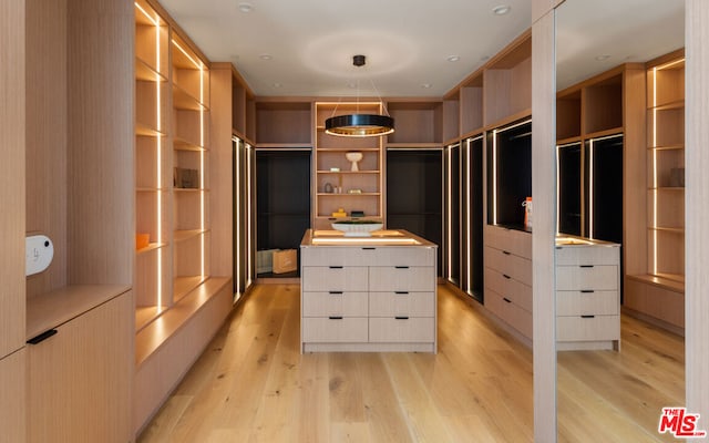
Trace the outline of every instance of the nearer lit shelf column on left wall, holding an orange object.
<path fill-rule="evenodd" d="M 168 30 L 145 2 L 135 3 L 135 327 L 171 305 L 168 156 Z M 138 243 L 140 241 L 140 243 Z"/>

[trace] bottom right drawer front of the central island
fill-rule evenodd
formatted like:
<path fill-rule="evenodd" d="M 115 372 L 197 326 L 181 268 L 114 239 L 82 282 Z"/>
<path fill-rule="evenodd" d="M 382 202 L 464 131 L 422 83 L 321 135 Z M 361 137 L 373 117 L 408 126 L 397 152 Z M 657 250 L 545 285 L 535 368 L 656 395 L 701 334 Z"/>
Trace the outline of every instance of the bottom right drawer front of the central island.
<path fill-rule="evenodd" d="M 435 341 L 435 319 L 370 318 L 369 341 L 376 343 L 429 343 Z"/>

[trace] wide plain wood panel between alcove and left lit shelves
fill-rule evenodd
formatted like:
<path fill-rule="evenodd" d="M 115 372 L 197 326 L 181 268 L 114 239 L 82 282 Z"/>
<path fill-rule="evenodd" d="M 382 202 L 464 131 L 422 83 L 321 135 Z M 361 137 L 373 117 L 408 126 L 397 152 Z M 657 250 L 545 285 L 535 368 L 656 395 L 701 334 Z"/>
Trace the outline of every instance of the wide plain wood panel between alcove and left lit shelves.
<path fill-rule="evenodd" d="M 133 8 L 68 0 L 71 284 L 133 280 Z"/>

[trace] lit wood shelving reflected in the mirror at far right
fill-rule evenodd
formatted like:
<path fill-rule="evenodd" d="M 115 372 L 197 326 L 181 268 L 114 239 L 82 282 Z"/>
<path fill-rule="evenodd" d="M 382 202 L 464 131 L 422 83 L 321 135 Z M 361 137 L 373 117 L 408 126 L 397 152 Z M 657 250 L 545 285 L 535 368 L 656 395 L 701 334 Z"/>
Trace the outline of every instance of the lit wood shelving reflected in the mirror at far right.
<path fill-rule="evenodd" d="M 685 327 L 685 54 L 647 64 L 644 240 L 627 272 L 625 305 L 677 332 Z M 643 256 L 646 254 L 645 256 Z M 645 268 L 643 268 L 645 266 Z"/>

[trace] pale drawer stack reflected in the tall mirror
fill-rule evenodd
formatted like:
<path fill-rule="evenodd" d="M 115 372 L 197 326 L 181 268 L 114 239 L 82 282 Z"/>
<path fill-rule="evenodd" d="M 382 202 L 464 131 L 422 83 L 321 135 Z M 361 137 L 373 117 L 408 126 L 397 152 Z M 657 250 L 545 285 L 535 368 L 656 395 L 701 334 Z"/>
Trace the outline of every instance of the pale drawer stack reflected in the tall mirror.
<path fill-rule="evenodd" d="M 619 245 L 556 246 L 556 349 L 620 347 Z"/>

